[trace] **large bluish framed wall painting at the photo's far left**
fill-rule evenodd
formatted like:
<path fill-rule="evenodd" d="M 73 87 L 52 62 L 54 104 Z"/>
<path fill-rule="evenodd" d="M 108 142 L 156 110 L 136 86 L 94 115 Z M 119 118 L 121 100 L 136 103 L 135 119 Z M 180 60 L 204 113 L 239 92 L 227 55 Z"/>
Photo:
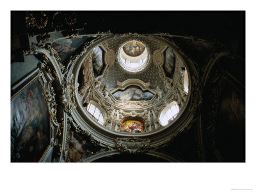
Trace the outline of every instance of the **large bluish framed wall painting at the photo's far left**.
<path fill-rule="evenodd" d="M 49 145 L 49 114 L 38 79 L 11 101 L 11 161 L 38 162 Z"/>

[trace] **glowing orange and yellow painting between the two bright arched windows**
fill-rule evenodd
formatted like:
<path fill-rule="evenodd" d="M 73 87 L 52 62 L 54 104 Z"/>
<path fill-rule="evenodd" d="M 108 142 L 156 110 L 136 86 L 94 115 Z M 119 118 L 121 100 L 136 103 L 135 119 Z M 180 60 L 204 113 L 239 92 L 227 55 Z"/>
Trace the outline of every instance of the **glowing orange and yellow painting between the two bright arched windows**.
<path fill-rule="evenodd" d="M 122 124 L 121 127 L 122 131 L 124 132 L 144 132 L 145 126 L 143 122 L 138 120 L 127 120 Z"/>

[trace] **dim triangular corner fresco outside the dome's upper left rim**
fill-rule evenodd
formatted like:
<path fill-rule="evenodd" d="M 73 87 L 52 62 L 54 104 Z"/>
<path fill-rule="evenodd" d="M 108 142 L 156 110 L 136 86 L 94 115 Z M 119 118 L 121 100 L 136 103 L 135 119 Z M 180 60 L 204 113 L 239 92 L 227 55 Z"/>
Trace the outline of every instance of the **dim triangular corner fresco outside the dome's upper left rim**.
<path fill-rule="evenodd" d="M 56 40 L 55 42 L 52 42 L 52 48 L 58 52 L 61 58 L 61 63 L 65 64 L 68 58 L 83 45 L 87 38 L 87 36 L 84 36 L 83 38 L 77 37 Z"/>

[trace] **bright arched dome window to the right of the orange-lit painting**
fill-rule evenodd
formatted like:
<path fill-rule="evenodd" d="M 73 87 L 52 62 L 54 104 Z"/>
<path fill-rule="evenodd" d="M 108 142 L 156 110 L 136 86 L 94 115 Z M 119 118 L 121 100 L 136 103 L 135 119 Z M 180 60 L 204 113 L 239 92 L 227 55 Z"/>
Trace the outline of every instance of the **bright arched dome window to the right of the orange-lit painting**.
<path fill-rule="evenodd" d="M 166 106 L 159 116 L 160 124 L 165 126 L 168 125 L 178 115 L 179 106 L 176 101 L 171 102 Z"/>

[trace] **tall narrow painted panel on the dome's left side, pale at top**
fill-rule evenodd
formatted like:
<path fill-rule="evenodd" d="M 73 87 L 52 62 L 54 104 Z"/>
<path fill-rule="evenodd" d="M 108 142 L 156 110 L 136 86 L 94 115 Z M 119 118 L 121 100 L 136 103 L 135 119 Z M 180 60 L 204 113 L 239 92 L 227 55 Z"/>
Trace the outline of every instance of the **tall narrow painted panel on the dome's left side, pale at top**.
<path fill-rule="evenodd" d="M 104 64 L 102 60 L 103 60 L 103 51 L 100 49 L 100 47 L 95 47 L 93 49 L 93 56 L 92 56 L 94 77 L 98 77 L 102 73 L 102 70 L 104 68 Z"/>

